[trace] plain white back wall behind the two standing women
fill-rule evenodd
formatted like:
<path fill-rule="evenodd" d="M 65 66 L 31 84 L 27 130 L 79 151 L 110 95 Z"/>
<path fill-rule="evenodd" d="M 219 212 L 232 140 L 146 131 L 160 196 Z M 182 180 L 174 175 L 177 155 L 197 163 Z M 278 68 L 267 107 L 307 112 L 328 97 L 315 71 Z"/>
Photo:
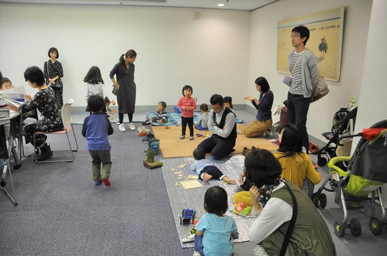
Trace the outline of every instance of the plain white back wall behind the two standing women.
<path fill-rule="evenodd" d="M 200 19 L 195 19 L 200 12 Z M 97 65 L 105 84 L 121 54 L 137 52 L 136 105 L 176 105 L 182 87 L 197 102 L 214 93 L 244 103 L 249 65 L 248 11 L 195 8 L 0 3 L 0 70 L 14 85 L 24 70 L 43 68 L 56 47 L 64 68 L 64 100 L 86 105 L 88 69 Z M 36 91 L 28 88 L 28 93 Z"/>

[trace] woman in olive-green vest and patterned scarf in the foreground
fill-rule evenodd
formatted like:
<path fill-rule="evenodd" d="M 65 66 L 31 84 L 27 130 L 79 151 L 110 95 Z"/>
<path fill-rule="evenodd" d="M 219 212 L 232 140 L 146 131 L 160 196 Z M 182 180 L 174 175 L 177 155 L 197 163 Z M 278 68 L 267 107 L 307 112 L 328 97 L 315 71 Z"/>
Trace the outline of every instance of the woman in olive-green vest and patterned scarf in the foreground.
<path fill-rule="evenodd" d="M 252 214 L 257 216 L 249 230 L 250 242 L 255 243 L 253 256 L 285 252 L 289 256 L 336 255 L 323 217 L 302 190 L 280 177 L 281 164 L 273 154 L 261 149 L 252 151 L 245 158 L 245 167 L 246 178 L 253 183 Z M 286 244 L 285 234 L 292 221 L 294 228 Z"/>

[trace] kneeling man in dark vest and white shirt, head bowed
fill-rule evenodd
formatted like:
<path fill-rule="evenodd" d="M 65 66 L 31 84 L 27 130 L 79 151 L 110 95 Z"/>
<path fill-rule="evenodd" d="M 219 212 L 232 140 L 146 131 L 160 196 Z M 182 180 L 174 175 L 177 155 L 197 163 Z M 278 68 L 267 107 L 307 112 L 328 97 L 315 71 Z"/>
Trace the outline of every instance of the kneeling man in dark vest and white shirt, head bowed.
<path fill-rule="evenodd" d="M 221 159 L 234 152 L 237 139 L 237 116 L 224 105 L 218 94 L 211 96 L 211 111 L 208 116 L 208 130 L 212 136 L 202 141 L 197 148 L 210 153 L 214 159 Z"/>

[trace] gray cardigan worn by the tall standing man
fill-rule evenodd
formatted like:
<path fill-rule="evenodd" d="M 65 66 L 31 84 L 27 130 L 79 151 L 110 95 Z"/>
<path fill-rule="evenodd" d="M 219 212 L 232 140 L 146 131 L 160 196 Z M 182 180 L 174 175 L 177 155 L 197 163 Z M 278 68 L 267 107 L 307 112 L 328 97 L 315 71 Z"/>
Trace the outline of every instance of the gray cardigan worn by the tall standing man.
<path fill-rule="evenodd" d="M 289 72 L 290 62 L 292 60 L 292 54 L 295 50 L 289 52 Z M 304 98 L 310 98 L 313 96 L 317 82 L 319 81 L 319 70 L 317 68 L 317 57 L 313 51 L 308 48 L 305 49 L 305 55 L 302 57 L 302 91 L 304 93 Z"/>

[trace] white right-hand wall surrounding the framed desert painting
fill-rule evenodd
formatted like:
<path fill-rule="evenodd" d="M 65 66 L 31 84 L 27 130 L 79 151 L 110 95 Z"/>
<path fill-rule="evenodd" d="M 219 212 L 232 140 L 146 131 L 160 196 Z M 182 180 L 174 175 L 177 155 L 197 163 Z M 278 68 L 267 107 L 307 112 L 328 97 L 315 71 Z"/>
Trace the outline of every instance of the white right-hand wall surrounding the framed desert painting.
<path fill-rule="evenodd" d="M 340 6 L 345 6 L 340 81 L 327 81 L 329 94 L 312 103 L 308 113 L 308 133 L 324 143 L 321 134 L 330 131 L 333 114 L 347 105 L 348 98 L 359 99 L 372 0 L 282 0 L 252 13 L 248 94 L 258 95 L 254 81 L 264 76 L 274 93 L 274 102 L 282 103 L 287 99 L 288 87 L 282 83 L 284 74 L 276 72 L 278 20 Z"/>

